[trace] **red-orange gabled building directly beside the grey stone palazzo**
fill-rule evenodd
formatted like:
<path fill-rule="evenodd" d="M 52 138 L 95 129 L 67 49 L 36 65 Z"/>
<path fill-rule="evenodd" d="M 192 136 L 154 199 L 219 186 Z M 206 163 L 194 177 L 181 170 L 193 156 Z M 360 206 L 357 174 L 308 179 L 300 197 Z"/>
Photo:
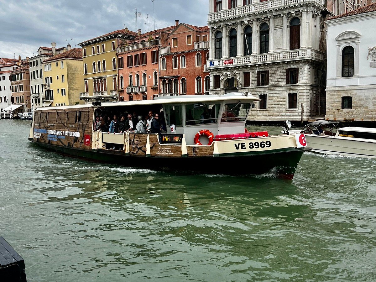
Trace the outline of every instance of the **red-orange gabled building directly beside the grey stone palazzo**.
<path fill-rule="evenodd" d="M 159 57 L 161 96 L 209 94 L 208 26 L 177 25 L 163 42 Z"/>

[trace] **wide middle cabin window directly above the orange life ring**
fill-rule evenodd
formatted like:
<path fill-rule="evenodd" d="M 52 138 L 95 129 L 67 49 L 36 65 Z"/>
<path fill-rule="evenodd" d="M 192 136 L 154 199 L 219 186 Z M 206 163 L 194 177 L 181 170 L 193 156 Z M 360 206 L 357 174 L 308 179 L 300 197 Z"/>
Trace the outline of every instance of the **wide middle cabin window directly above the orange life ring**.
<path fill-rule="evenodd" d="M 217 123 L 220 104 L 197 103 L 185 105 L 186 125 Z"/>

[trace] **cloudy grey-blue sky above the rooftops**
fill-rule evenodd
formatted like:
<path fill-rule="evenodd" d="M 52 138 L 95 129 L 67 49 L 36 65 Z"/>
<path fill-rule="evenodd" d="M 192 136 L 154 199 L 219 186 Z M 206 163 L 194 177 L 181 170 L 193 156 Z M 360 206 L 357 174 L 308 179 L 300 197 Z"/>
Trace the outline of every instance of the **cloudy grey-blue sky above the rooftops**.
<path fill-rule="evenodd" d="M 208 0 L 0 0 L 0 57 L 22 59 L 37 54 L 39 46 L 74 47 L 85 40 L 124 28 L 147 32 L 172 26 L 175 20 L 194 26 L 208 24 Z"/>

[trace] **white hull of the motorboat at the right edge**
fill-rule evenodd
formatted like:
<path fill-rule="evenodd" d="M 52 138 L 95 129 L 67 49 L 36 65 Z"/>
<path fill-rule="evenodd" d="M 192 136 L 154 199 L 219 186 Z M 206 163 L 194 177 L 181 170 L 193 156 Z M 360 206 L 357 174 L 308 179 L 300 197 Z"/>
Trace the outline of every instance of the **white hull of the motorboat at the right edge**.
<path fill-rule="evenodd" d="M 306 134 L 311 152 L 329 155 L 376 158 L 376 142 Z"/>

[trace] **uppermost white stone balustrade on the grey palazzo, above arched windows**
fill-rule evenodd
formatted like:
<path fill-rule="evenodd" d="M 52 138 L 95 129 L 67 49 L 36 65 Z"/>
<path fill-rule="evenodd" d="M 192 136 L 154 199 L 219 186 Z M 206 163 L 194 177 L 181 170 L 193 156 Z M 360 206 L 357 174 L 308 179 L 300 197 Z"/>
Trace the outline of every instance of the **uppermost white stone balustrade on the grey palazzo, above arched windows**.
<path fill-rule="evenodd" d="M 252 17 L 252 15 L 261 12 L 269 12 L 290 7 L 299 7 L 302 5 L 320 5 L 324 7 L 324 0 L 269 0 L 265 2 L 252 3 L 246 6 L 240 6 L 232 9 L 226 9 L 214 12 L 208 15 L 208 25 L 212 23 L 226 21 L 233 18 Z"/>

